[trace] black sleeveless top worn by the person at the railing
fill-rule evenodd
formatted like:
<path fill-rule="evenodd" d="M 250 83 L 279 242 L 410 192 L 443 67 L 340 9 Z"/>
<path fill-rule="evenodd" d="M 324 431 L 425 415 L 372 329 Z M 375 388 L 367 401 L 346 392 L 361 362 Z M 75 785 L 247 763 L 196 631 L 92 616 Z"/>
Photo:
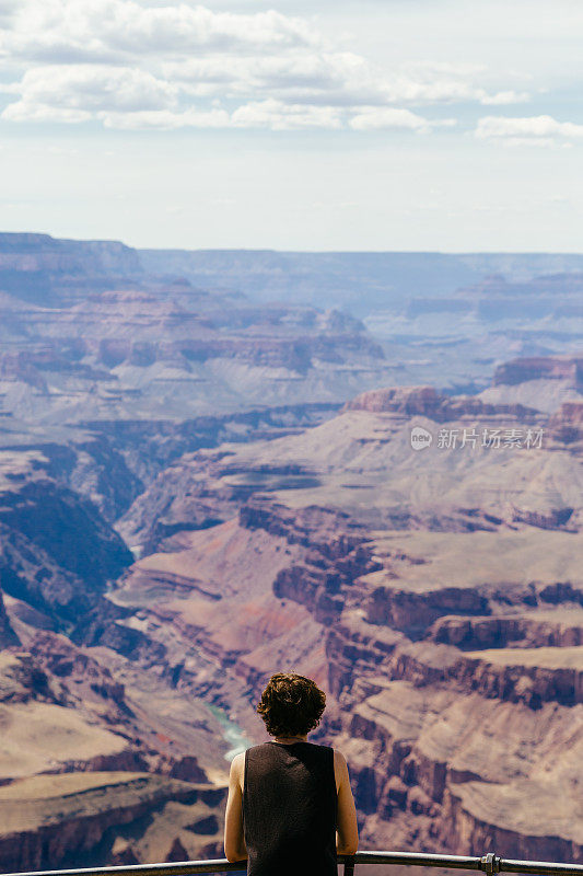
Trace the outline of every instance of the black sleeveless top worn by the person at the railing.
<path fill-rule="evenodd" d="M 334 749 L 264 742 L 245 752 L 247 876 L 337 876 Z"/>

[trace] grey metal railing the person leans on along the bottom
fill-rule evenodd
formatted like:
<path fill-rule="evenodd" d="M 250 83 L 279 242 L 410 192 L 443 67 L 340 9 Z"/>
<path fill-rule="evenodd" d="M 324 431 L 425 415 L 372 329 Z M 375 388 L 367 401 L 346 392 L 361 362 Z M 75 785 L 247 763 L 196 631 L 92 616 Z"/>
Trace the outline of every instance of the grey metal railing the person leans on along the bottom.
<path fill-rule="evenodd" d="M 583 876 L 583 864 L 558 864 L 552 861 L 514 861 L 488 852 L 479 857 L 465 855 L 418 854 L 417 852 L 357 852 L 338 855 L 345 876 L 353 876 L 357 864 L 400 864 L 413 867 L 452 867 L 478 869 L 487 876 L 494 873 L 535 873 L 540 876 Z M 244 861 L 180 861 L 176 864 L 130 864 L 121 867 L 89 867 L 83 869 L 47 869 L 31 873 L 7 873 L 2 876 L 194 876 L 196 873 L 245 873 Z M 299 874 L 301 876 L 301 874 Z"/>

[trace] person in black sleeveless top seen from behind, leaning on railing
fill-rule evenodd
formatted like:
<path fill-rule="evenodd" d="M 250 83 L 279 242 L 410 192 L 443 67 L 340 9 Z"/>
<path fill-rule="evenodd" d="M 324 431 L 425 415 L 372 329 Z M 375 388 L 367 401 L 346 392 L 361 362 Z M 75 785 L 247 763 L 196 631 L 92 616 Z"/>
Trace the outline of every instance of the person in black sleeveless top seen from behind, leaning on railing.
<path fill-rule="evenodd" d="M 326 694 L 293 672 L 272 676 L 257 706 L 268 742 L 231 764 L 224 851 L 248 876 L 336 876 L 337 854 L 358 849 L 354 798 L 345 757 L 307 741 Z"/>

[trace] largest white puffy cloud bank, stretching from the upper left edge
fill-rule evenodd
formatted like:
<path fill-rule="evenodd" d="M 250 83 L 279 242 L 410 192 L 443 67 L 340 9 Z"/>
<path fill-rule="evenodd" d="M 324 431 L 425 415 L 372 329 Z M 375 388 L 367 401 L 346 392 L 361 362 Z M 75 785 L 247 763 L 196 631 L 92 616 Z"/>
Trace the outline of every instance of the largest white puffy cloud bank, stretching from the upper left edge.
<path fill-rule="evenodd" d="M 482 65 L 423 61 L 382 71 L 353 51 L 336 51 L 307 19 L 273 10 L 155 3 L 0 0 L 0 16 L 11 13 L 0 32 L 0 74 L 14 95 L 2 118 L 431 130 L 443 123 L 405 107 L 527 96 L 490 93 L 479 83 Z"/>

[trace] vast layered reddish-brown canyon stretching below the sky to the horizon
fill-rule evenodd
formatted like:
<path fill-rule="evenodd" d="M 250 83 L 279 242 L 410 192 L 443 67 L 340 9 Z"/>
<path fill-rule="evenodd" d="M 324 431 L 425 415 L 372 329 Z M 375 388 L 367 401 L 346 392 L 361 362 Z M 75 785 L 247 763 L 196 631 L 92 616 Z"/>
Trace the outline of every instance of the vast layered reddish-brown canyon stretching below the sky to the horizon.
<path fill-rule="evenodd" d="M 0 235 L 0 868 L 221 856 L 278 670 L 327 693 L 361 848 L 583 862 L 579 318 L 494 314 L 471 392 L 423 323 L 580 275 L 465 256 L 387 341 L 249 258 Z"/>

